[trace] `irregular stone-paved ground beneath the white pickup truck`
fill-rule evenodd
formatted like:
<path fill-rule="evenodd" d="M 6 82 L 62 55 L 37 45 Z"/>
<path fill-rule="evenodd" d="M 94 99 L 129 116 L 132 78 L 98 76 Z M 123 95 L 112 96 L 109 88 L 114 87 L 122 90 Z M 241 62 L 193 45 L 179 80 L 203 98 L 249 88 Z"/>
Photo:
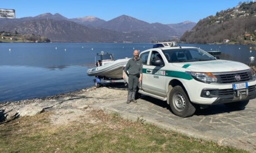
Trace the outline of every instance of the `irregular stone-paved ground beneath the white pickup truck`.
<path fill-rule="evenodd" d="M 256 100 L 251 100 L 244 110 L 234 111 L 219 104 L 201 109 L 189 118 L 173 115 L 165 101 L 146 96 L 137 101 L 130 104 L 126 100 L 113 101 L 92 107 L 106 113 L 118 113 L 133 121 L 139 118 L 146 123 L 220 145 L 256 152 Z"/>

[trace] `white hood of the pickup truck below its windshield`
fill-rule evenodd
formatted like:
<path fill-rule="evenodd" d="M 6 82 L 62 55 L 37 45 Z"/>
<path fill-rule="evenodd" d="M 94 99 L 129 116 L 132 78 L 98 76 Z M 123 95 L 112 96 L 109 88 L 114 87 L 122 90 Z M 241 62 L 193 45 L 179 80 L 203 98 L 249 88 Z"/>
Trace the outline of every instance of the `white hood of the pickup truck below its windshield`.
<path fill-rule="evenodd" d="M 249 66 L 247 66 L 246 64 L 227 60 L 199 61 L 172 64 L 177 67 L 188 69 L 192 72 L 232 72 L 249 69 Z"/>

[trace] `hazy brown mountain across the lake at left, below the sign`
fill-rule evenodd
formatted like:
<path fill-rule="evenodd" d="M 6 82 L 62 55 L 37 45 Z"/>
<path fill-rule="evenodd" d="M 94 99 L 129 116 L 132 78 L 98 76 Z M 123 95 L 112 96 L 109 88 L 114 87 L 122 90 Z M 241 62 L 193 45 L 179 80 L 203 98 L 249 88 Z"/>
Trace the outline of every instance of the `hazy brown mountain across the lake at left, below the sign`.
<path fill-rule="evenodd" d="M 121 35 L 110 30 L 90 29 L 76 22 L 54 19 L 33 19 L 15 22 L 0 27 L 0 31 L 15 30 L 23 35 L 45 36 L 57 42 L 113 42 L 121 39 Z"/>

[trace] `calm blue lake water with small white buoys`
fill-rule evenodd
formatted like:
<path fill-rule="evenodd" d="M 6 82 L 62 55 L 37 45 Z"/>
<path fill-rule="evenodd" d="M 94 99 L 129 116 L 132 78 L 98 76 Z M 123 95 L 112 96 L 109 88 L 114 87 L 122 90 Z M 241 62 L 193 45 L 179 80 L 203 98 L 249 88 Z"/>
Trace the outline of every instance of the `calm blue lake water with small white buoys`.
<path fill-rule="evenodd" d="M 250 64 L 256 51 L 241 45 L 181 44 L 203 50 L 221 50 L 221 59 Z M 0 43 L 0 102 L 48 97 L 94 86 L 87 69 L 95 55 L 113 53 L 130 58 L 134 49 L 150 49 L 151 43 Z M 250 52 L 250 50 L 252 50 Z M 251 63 L 251 64 L 254 64 Z"/>

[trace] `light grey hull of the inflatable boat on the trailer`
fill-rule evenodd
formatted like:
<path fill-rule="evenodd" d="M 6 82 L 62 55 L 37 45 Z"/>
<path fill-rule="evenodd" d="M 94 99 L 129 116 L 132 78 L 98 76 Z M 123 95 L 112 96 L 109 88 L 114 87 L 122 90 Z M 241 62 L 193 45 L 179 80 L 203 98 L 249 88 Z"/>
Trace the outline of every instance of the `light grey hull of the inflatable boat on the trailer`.
<path fill-rule="evenodd" d="M 127 64 L 129 58 L 113 61 L 104 66 L 94 67 L 87 70 L 87 75 L 90 77 L 98 76 L 105 78 L 122 78 L 123 67 Z"/>

